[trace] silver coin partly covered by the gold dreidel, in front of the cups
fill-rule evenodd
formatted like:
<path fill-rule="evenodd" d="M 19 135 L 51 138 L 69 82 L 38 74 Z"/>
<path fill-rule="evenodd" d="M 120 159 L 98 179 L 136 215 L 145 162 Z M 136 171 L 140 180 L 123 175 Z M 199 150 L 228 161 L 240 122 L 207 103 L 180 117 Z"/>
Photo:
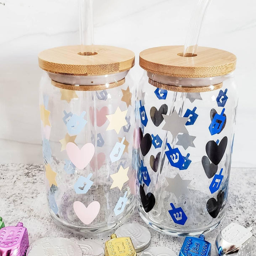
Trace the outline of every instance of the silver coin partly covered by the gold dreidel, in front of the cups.
<path fill-rule="evenodd" d="M 122 225 L 115 233 L 117 237 L 130 237 L 136 252 L 145 250 L 151 239 L 149 230 L 137 223 Z"/>

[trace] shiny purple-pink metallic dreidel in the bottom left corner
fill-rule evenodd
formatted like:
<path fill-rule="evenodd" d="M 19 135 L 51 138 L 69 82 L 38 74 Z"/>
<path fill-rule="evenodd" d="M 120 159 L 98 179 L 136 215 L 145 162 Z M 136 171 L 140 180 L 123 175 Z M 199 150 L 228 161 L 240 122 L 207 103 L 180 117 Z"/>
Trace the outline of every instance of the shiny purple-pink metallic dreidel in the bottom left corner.
<path fill-rule="evenodd" d="M 28 232 L 22 222 L 0 229 L 1 256 L 25 256 L 28 246 Z"/>

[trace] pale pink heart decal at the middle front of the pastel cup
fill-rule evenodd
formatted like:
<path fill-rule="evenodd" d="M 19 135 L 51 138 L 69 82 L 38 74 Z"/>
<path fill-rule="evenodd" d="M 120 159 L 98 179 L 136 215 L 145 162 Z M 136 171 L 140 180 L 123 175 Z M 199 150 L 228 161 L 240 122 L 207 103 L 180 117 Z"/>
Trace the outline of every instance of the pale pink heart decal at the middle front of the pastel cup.
<path fill-rule="evenodd" d="M 82 170 L 89 164 L 94 156 L 95 148 L 92 143 L 86 143 L 79 149 L 75 143 L 69 142 L 66 144 L 66 152 L 71 162 L 73 162 L 79 170 Z"/>

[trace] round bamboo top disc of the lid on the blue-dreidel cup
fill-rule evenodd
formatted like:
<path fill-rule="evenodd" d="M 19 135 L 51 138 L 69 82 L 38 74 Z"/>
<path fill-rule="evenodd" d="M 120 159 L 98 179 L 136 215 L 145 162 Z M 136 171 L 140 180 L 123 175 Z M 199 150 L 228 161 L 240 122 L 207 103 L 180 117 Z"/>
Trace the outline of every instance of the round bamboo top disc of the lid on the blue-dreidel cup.
<path fill-rule="evenodd" d="M 235 70 L 236 56 L 215 48 L 198 47 L 197 55 L 183 57 L 183 46 L 161 46 L 143 50 L 140 66 L 153 74 L 180 78 L 221 76 Z"/>

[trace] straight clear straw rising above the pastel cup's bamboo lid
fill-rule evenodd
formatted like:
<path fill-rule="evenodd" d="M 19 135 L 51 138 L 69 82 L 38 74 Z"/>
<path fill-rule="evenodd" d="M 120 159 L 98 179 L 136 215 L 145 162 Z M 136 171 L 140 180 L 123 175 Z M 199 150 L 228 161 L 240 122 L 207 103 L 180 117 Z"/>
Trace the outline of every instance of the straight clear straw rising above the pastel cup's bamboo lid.
<path fill-rule="evenodd" d="M 82 55 L 93 55 L 94 26 L 93 26 L 93 0 L 78 0 L 79 32 Z M 86 49 L 84 46 L 87 46 Z M 90 50 L 88 51 L 88 46 Z"/>

